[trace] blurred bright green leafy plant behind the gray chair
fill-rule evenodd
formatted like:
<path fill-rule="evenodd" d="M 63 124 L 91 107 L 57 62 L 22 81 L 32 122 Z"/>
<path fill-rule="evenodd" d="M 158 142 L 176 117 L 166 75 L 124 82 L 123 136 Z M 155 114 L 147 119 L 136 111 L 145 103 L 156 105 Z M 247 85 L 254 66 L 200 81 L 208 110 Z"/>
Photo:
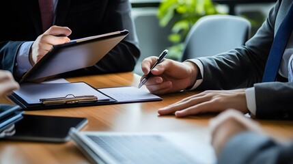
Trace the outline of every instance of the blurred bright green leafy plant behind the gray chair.
<path fill-rule="evenodd" d="M 224 14 L 219 5 L 211 0 L 164 0 L 158 7 L 158 19 L 161 27 L 172 23 L 168 36 L 173 46 L 169 47 L 168 57 L 180 59 L 184 48 L 184 40 L 191 27 L 202 16 Z"/>

